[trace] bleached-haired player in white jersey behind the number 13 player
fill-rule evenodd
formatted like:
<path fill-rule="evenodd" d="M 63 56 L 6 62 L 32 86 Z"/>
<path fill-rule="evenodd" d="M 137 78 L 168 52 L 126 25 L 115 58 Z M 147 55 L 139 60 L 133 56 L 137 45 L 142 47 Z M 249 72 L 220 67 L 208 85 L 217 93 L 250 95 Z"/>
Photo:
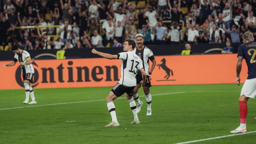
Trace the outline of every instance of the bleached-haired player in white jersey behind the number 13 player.
<path fill-rule="evenodd" d="M 146 102 L 148 104 L 146 115 L 151 115 L 151 113 L 152 113 L 152 110 L 151 110 L 152 96 L 149 91 L 149 87 L 151 86 L 150 74 L 152 74 L 152 72 L 156 66 L 156 60 L 154 58 L 153 52 L 149 48 L 147 48 L 146 46 L 143 45 L 143 43 L 144 43 L 143 35 L 137 34 L 135 37 L 136 37 L 136 43 L 138 46 L 137 46 L 137 48 L 134 49 L 133 52 L 141 58 L 141 60 L 143 62 L 143 68 L 145 69 L 145 72 L 147 74 L 146 83 L 145 83 L 145 85 L 143 85 L 143 90 L 144 90 Z M 151 69 L 149 69 L 149 63 L 148 63 L 149 60 L 152 62 Z M 137 85 L 134 88 L 133 99 L 138 103 L 137 113 L 139 113 L 141 106 L 143 104 L 143 102 L 140 101 L 139 95 L 138 95 L 138 89 L 140 88 L 140 81 L 141 81 L 141 73 L 140 72 L 138 72 L 136 79 L 137 79 Z"/>

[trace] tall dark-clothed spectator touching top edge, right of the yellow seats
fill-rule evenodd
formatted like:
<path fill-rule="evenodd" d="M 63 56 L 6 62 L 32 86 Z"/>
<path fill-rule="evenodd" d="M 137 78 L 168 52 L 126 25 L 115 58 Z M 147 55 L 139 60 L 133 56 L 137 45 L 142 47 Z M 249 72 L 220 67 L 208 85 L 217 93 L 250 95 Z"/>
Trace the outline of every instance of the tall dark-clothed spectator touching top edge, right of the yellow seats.
<path fill-rule="evenodd" d="M 201 7 L 200 9 L 200 25 L 202 25 L 204 23 L 204 21 L 208 18 L 208 16 L 210 15 L 211 9 L 210 9 L 210 5 L 207 4 L 208 1 L 204 0 L 203 4 L 201 3 L 201 0 L 199 0 L 199 5 Z"/>

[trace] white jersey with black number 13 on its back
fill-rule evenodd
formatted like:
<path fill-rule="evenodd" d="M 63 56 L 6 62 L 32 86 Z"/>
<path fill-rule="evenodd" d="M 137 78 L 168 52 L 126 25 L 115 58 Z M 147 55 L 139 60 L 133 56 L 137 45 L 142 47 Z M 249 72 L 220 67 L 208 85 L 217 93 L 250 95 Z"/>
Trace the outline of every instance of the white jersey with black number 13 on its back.
<path fill-rule="evenodd" d="M 124 86 L 136 86 L 136 74 L 143 68 L 142 60 L 132 51 L 119 53 L 121 59 L 121 78 L 119 83 Z"/>

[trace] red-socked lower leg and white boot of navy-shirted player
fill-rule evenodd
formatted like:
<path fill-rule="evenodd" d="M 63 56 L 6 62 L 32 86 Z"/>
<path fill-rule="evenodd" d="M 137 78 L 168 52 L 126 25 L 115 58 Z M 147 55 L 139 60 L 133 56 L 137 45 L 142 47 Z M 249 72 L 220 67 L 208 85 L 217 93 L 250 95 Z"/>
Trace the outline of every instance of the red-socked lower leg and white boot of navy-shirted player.
<path fill-rule="evenodd" d="M 239 115 L 240 115 L 240 126 L 235 130 L 230 131 L 231 133 L 245 133 L 246 129 L 246 118 L 247 118 L 247 101 L 249 97 L 241 95 L 239 97 Z"/>

